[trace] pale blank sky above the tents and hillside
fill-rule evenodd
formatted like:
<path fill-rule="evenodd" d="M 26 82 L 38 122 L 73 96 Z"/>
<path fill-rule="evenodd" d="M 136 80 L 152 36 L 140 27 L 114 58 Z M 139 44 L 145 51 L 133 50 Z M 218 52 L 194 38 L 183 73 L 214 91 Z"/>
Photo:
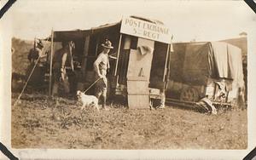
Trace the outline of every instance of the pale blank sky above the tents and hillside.
<path fill-rule="evenodd" d="M 256 28 L 256 16 L 243 1 L 63 1 L 22 0 L 9 10 L 14 37 L 48 37 L 53 30 L 89 29 L 125 15 L 164 22 L 174 42 L 217 41 Z"/>

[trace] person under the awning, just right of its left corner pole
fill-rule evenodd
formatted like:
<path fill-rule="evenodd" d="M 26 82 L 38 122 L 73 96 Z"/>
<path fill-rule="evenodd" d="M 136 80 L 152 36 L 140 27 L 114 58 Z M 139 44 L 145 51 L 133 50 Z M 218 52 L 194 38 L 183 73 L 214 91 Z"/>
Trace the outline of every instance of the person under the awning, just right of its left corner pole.
<path fill-rule="evenodd" d="M 74 43 L 72 41 L 63 41 L 61 45 L 62 48 L 57 50 L 53 57 L 53 95 L 58 95 L 60 84 L 63 85 L 65 94 L 69 94 L 70 82 L 68 81 L 68 77 L 73 75 L 72 50 L 74 49 Z"/>

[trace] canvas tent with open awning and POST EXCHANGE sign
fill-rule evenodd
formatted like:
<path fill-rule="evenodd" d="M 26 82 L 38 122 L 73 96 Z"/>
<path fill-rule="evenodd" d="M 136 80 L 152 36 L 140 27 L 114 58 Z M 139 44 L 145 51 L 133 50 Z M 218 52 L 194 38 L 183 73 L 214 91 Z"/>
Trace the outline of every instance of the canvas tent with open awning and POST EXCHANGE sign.
<path fill-rule="evenodd" d="M 145 105 L 148 103 L 148 86 L 162 90 L 166 86 L 171 33 L 160 21 L 130 16 L 118 23 L 89 30 L 52 31 L 52 35 L 47 38 L 52 42 L 49 57 L 53 57 L 55 50 L 60 49 L 61 41 L 73 41 L 76 46 L 73 56 L 81 65 L 76 74 L 79 77 L 77 89 L 84 90 L 95 81 L 93 62 L 101 53 L 101 43 L 106 38 L 113 43 L 114 48 L 110 53 L 113 60 L 110 60 L 111 67 L 108 71 L 110 94 L 125 94 L 130 97 L 129 106 L 148 107 Z M 51 63 L 49 62 L 49 66 L 52 66 Z M 51 74 L 50 72 L 49 77 Z M 134 101 L 137 103 L 132 104 Z M 140 104 L 142 101 L 144 102 Z"/>

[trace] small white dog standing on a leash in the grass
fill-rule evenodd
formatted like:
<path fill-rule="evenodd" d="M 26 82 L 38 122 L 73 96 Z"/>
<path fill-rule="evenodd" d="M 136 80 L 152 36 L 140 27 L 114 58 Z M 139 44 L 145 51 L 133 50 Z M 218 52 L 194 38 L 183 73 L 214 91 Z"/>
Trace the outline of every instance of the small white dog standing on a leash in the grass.
<path fill-rule="evenodd" d="M 84 107 L 90 107 L 93 106 L 99 111 L 98 107 L 98 99 L 94 95 L 86 95 L 80 90 L 77 91 L 77 96 L 79 98 L 79 101 L 82 102 L 83 106 L 81 107 L 81 110 L 84 110 Z"/>

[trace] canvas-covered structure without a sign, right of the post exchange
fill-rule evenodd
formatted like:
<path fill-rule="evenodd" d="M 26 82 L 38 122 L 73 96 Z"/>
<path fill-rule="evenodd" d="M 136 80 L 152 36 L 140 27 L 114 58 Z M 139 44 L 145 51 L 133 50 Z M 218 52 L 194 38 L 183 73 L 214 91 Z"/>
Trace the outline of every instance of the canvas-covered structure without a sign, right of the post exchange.
<path fill-rule="evenodd" d="M 237 89 L 244 87 L 241 49 L 236 46 L 220 42 L 174 43 L 173 49 L 167 97 L 181 99 L 186 89 L 192 89 L 196 95 L 189 100 L 197 101 L 207 94 L 214 96 L 215 83 L 222 82 L 231 100 L 236 98 Z"/>

